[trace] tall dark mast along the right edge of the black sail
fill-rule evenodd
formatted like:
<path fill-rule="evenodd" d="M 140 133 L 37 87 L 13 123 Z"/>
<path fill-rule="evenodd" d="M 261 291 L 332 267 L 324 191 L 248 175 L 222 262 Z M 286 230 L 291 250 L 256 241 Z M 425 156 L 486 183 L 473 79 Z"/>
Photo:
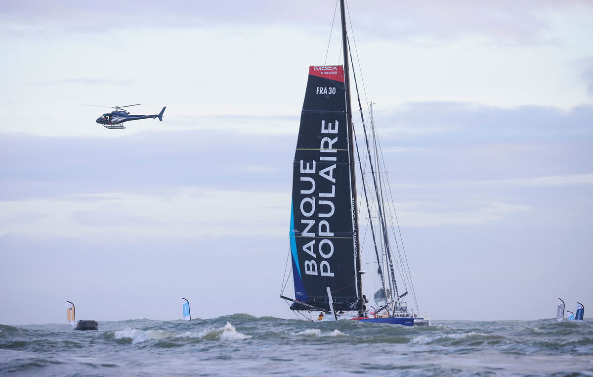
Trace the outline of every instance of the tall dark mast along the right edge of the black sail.
<path fill-rule="evenodd" d="M 362 274 L 361 253 L 358 246 L 358 203 L 356 202 L 356 167 L 354 164 L 354 128 L 352 125 L 352 103 L 350 102 L 350 66 L 348 60 L 348 40 L 346 35 L 346 10 L 344 0 L 340 0 L 340 13 L 342 14 L 342 50 L 344 52 L 344 84 L 346 87 L 346 122 L 348 123 L 348 144 L 350 159 L 350 195 L 352 197 L 352 220 L 354 233 L 354 257 L 356 260 L 356 290 L 358 290 L 358 315 L 362 316 Z"/>

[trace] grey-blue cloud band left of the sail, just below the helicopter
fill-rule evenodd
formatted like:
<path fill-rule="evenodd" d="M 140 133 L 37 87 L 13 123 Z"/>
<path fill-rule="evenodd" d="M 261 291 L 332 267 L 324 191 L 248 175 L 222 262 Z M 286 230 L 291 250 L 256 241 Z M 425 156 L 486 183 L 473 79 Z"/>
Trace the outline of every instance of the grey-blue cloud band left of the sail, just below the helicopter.
<path fill-rule="evenodd" d="M 294 135 L 246 137 L 212 129 L 123 138 L 5 134 L 0 140 L 0 196 L 122 191 L 166 196 L 176 186 L 288 191 L 295 145 Z"/>

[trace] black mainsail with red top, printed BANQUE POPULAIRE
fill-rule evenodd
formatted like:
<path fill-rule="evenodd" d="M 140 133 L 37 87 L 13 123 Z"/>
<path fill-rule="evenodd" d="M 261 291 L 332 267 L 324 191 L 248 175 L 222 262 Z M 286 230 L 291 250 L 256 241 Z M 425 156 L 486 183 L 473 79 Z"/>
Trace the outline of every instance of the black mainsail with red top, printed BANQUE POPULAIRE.
<path fill-rule="evenodd" d="M 344 70 L 310 66 L 292 180 L 291 255 L 295 299 L 357 309 Z M 295 302 L 292 310 L 308 310 Z"/>

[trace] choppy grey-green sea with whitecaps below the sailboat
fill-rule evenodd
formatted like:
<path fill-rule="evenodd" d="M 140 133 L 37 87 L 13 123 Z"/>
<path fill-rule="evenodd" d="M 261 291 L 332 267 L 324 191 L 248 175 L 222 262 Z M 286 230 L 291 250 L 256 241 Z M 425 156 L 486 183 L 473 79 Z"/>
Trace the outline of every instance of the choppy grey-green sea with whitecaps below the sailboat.
<path fill-rule="evenodd" d="M 0 325 L 2 376 L 593 376 L 593 319 Z"/>

